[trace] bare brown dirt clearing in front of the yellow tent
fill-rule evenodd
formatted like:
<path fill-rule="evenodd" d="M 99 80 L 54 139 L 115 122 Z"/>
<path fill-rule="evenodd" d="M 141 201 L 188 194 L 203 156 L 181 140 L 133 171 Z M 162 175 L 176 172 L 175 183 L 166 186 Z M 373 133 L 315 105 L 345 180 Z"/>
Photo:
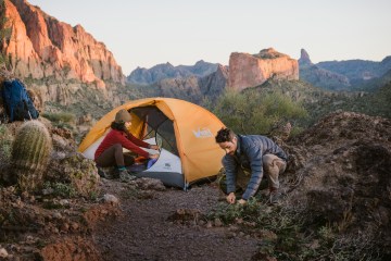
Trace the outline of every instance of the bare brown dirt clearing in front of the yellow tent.
<path fill-rule="evenodd" d="M 104 189 L 119 198 L 122 215 L 93 231 L 103 260 L 252 260 L 257 251 L 260 239 L 235 226 L 197 220 L 218 202 L 211 184 L 135 195 L 127 185 L 109 181 Z M 190 213 L 187 222 L 178 214 L 184 212 Z"/>

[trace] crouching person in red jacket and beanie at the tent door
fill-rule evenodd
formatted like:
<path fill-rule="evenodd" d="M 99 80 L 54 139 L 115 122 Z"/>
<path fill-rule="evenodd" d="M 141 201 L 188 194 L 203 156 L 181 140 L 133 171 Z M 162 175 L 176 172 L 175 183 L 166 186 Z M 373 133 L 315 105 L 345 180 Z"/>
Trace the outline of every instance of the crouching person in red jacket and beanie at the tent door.
<path fill-rule="evenodd" d="M 141 148 L 159 150 L 159 146 L 147 144 L 133 136 L 128 127 L 131 124 L 131 115 L 128 111 L 122 109 L 115 114 L 115 121 L 111 124 L 111 130 L 99 145 L 94 161 L 98 166 L 116 166 L 117 174 L 122 182 L 129 182 L 135 176 L 130 175 L 125 166 L 135 163 L 135 158 L 124 153 L 123 149 L 128 149 L 147 159 L 157 159 L 159 153 L 150 154 Z M 141 147 L 141 148 L 140 148 Z"/>

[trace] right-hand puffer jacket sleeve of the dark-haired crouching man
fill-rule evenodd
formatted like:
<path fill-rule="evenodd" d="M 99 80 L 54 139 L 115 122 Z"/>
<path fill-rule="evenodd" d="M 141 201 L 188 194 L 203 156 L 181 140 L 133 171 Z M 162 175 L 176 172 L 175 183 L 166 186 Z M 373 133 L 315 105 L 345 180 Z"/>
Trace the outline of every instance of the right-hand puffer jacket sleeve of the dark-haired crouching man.
<path fill-rule="evenodd" d="M 251 146 L 244 151 L 249 158 L 251 166 L 251 177 L 242 196 L 244 200 L 254 196 L 260 187 L 263 176 L 263 162 L 262 162 L 262 149 L 260 146 Z"/>

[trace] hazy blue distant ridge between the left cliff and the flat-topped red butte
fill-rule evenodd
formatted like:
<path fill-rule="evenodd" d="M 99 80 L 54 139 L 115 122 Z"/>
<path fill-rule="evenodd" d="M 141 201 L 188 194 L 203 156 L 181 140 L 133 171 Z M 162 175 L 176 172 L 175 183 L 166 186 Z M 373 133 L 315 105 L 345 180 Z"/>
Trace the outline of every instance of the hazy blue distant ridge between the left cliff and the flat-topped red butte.
<path fill-rule="evenodd" d="M 204 77 L 216 72 L 217 66 L 217 63 L 209 63 L 203 60 L 198 61 L 194 65 L 178 66 L 167 62 L 151 69 L 137 67 L 127 76 L 127 82 L 130 84 L 150 85 L 166 78 Z"/>

